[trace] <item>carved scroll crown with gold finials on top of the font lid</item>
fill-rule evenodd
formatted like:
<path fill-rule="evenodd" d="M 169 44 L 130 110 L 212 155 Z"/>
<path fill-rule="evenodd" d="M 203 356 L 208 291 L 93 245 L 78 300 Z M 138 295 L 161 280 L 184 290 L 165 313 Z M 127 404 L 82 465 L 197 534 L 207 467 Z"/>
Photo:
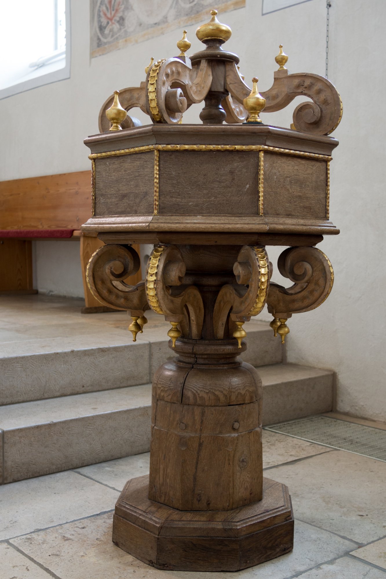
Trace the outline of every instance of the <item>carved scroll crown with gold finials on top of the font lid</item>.
<path fill-rule="evenodd" d="M 211 14 L 214 12 L 212 10 Z M 185 39 L 186 47 L 178 57 L 161 58 L 155 62 L 152 59 L 145 68 L 145 82 L 141 82 L 139 87 L 119 91 L 119 100 L 126 111 L 140 107 L 153 123 L 175 124 L 181 122 L 188 107 L 205 101 L 205 108 L 200 115 L 203 123 L 221 124 L 224 120 L 230 124 L 245 122 L 248 113 L 243 107 L 243 100 L 251 89 L 238 71 L 238 56 L 221 47 L 230 38 L 231 30 L 219 23 L 216 14 L 212 14 L 210 23 L 196 31 L 198 38 L 206 45 L 205 50 L 189 58 L 185 52 L 190 43 Z M 213 36 L 206 38 L 205 35 L 209 33 Z M 177 45 L 180 46 L 180 42 Z M 285 64 L 287 59 L 282 50 L 275 58 L 278 64 Z M 328 135 L 336 129 L 343 107 L 332 83 L 323 76 L 309 72 L 288 74 L 283 65 L 274 72 L 271 88 L 261 92 L 261 97 L 267 101 L 264 112 L 279 111 L 297 96 L 309 97 L 312 102 L 303 102 L 296 107 L 292 129 L 315 135 Z M 113 97 L 110 96 L 100 110 L 101 132 L 110 129 L 105 111 L 110 107 Z M 139 124 L 139 120 L 127 116 L 122 129 Z"/>

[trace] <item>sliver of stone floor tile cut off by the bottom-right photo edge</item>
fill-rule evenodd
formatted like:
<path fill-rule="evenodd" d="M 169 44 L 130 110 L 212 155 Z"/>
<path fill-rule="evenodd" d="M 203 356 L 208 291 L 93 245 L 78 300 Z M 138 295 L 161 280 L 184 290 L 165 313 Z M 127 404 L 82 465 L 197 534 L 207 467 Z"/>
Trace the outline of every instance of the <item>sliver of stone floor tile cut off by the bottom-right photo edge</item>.
<path fill-rule="evenodd" d="M 386 579 L 386 573 L 350 557 L 342 557 L 332 563 L 318 565 L 315 569 L 297 577 L 299 579 Z"/>

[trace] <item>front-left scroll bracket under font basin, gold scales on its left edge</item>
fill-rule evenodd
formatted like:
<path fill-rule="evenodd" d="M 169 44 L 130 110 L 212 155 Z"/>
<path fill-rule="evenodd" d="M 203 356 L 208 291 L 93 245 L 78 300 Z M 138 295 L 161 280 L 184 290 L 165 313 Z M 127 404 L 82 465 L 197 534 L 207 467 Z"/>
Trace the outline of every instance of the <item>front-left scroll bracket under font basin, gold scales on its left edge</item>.
<path fill-rule="evenodd" d="M 183 285 L 186 272 L 180 250 L 175 245 L 159 245 L 151 252 L 146 272 L 146 295 L 154 312 L 172 324 L 168 336 L 199 340 L 203 324 L 203 302 L 195 285 Z M 180 329 L 179 329 L 179 328 Z"/>

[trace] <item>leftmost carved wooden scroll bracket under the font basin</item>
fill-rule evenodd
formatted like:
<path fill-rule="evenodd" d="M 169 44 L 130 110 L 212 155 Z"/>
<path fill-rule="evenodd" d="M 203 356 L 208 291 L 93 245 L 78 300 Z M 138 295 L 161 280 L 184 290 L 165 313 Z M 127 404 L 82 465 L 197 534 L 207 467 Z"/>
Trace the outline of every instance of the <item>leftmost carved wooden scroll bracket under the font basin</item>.
<path fill-rule="evenodd" d="M 128 285 L 125 279 L 139 270 L 140 258 L 130 245 L 103 245 L 90 258 L 86 278 L 92 294 L 105 306 L 138 312 L 150 309 L 145 284 Z"/>

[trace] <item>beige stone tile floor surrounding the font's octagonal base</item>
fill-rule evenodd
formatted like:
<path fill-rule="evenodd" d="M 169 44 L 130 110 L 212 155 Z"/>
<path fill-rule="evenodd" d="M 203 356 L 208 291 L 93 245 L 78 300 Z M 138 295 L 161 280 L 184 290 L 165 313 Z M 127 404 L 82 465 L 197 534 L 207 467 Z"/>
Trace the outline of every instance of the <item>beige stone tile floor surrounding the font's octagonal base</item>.
<path fill-rule="evenodd" d="M 293 552 L 237 573 L 160 571 L 111 542 L 130 456 L 0 487 L 1 579 L 386 579 L 386 463 L 264 431 L 265 475 L 289 486 Z"/>

